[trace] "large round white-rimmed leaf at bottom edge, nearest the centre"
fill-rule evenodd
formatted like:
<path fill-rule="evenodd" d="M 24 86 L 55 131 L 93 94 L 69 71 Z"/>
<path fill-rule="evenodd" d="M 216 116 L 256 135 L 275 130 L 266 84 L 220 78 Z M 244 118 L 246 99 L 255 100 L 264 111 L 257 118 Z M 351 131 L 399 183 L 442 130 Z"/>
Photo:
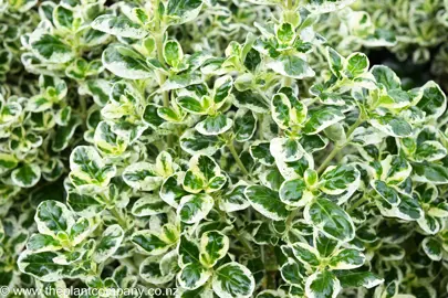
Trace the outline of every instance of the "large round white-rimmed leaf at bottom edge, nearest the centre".
<path fill-rule="evenodd" d="M 249 298 L 254 290 L 256 281 L 248 268 L 232 262 L 216 269 L 211 285 L 220 298 Z"/>

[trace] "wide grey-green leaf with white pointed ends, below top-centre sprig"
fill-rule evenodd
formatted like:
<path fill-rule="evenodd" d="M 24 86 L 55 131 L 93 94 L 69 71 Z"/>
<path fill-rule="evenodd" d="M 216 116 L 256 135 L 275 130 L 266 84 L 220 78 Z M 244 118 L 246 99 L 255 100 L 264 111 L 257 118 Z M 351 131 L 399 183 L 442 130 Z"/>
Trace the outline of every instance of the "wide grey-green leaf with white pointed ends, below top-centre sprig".
<path fill-rule="evenodd" d="M 267 66 L 278 74 L 296 79 L 313 77 L 315 75 L 310 65 L 298 56 L 282 55 L 269 62 Z"/>

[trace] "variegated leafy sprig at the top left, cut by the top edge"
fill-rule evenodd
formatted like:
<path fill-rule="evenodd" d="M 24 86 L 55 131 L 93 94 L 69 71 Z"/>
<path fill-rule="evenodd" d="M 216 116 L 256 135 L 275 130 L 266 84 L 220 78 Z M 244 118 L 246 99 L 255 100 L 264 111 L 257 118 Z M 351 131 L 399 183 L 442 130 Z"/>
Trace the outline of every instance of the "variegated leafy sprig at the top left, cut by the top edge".
<path fill-rule="evenodd" d="M 21 39 L 25 52 L 24 67 L 37 74 L 67 76 L 75 81 L 94 78 L 103 70 L 100 56 L 87 60 L 83 53 L 106 44 L 108 35 L 91 28 L 93 19 L 104 12 L 104 1 L 39 6 L 40 22 Z"/>

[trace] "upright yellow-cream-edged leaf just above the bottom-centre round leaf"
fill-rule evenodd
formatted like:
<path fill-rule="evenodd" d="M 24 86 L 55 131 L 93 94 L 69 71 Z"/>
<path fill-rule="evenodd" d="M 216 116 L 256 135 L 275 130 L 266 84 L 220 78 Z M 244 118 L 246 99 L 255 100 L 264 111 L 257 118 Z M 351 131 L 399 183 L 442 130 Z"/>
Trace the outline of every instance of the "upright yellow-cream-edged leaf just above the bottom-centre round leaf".
<path fill-rule="evenodd" d="M 211 268 L 217 262 L 227 255 L 229 249 L 229 237 L 218 231 L 210 231 L 202 234 L 200 238 L 200 264 Z"/>

